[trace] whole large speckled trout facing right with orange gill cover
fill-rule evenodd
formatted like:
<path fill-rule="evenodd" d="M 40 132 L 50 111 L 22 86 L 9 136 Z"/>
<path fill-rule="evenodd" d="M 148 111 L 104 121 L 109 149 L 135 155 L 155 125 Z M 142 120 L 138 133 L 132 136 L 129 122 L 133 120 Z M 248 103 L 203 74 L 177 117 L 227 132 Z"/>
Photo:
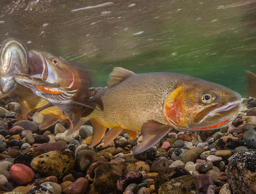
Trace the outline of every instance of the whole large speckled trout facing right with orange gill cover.
<path fill-rule="evenodd" d="M 74 130 L 88 119 L 93 124 L 94 146 L 108 145 L 122 130 L 141 131 L 138 154 L 156 144 L 172 128 L 180 131 L 214 130 L 232 122 L 242 107 L 241 96 L 227 87 L 188 75 L 159 72 L 135 74 L 115 67 L 108 88 L 100 90 L 84 107 Z M 72 131 L 71 131 L 72 132 Z M 136 134 L 136 132 L 135 132 Z"/>

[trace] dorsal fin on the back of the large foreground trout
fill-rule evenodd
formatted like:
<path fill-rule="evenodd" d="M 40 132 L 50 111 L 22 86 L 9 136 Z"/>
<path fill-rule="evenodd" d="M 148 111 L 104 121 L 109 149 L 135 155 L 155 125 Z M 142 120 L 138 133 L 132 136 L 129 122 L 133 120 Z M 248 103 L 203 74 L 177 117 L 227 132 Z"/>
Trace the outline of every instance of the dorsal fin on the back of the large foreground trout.
<path fill-rule="evenodd" d="M 122 80 L 134 74 L 135 74 L 134 72 L 128 69 L 124 69 L 122 67 L 114 67 L 113 71 L 109 74 L 110 78 L 108 80 L 108 87 L 118 84 Z"/>

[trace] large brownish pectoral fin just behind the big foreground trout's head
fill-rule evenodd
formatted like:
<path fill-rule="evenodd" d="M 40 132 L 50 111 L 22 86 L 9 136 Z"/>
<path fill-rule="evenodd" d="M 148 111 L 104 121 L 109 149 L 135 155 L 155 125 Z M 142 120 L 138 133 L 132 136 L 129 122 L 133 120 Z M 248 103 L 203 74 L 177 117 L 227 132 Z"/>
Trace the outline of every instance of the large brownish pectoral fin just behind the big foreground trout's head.
<path fill-rule="evenodd" d="M 171 129 L 171 126 L 163 125 L 153 120 L 145 122 L 141 127 L 143 142 L 133 149 L 133 154 L 136 155 L 147 150 L 148 148 L 151 148 L 160 139 L 162 139 Z"/>

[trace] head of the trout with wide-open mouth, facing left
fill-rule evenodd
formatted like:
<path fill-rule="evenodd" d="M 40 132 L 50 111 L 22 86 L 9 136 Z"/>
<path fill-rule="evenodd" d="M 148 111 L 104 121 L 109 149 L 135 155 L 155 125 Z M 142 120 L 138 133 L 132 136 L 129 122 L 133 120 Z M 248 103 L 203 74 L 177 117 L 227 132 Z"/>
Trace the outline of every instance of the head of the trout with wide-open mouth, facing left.
<path fill-rule="evenodd" d="M 15 75 L 18 83 L 53 104 L 67 103 L 75 98 L 81 81 L 76 69 L 63 58 L 31 50 L 28 53 L 28 64 L 29 74 Z"/>

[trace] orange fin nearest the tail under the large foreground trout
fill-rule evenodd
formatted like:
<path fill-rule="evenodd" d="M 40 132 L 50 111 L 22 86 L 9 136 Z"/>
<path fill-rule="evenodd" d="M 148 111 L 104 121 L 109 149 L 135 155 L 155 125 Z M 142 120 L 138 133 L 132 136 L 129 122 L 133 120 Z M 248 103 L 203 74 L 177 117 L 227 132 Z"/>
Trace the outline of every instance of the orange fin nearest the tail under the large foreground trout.
<path fill-rule="evenodd" d="M 107 127 L 99 123 L 96 119 L 90 119 L 93 124 L 93 139 L 91 146 L 97 145 L 103 138 Z"/>

